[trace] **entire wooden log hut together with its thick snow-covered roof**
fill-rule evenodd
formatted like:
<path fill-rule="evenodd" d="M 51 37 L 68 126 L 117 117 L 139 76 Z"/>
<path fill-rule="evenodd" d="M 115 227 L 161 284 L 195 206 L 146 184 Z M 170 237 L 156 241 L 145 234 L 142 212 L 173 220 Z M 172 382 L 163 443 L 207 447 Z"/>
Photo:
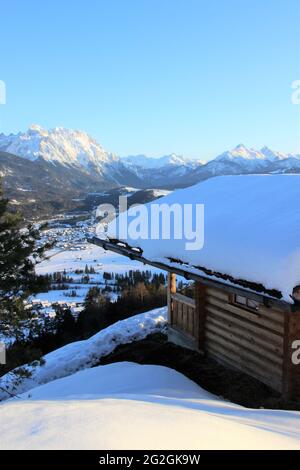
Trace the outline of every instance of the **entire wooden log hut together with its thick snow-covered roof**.
<path fill-rule="evenodd" d="M 174 230 L 169 239 L 120 239 L 108 230 L 92 242 L 168 272 L 171 341 L 299 400 L 300 175 L 211 178 L 146 208 L 198 203 L 200 249 L 188 250 Z M 195 283 L 193 298 L 177 292 L 176 276 Z"/>

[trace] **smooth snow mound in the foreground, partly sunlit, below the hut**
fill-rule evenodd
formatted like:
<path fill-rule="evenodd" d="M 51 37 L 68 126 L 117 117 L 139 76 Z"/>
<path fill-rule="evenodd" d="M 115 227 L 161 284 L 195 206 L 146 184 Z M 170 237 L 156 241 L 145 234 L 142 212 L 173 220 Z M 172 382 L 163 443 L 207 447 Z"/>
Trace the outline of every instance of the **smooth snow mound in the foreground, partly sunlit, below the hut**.
<path fill-rule="evenodd" d="M 1 449 L 300 449 L 300 412 L 225 402 L 182 374 L 129 362 L 0 404 Z"/>

